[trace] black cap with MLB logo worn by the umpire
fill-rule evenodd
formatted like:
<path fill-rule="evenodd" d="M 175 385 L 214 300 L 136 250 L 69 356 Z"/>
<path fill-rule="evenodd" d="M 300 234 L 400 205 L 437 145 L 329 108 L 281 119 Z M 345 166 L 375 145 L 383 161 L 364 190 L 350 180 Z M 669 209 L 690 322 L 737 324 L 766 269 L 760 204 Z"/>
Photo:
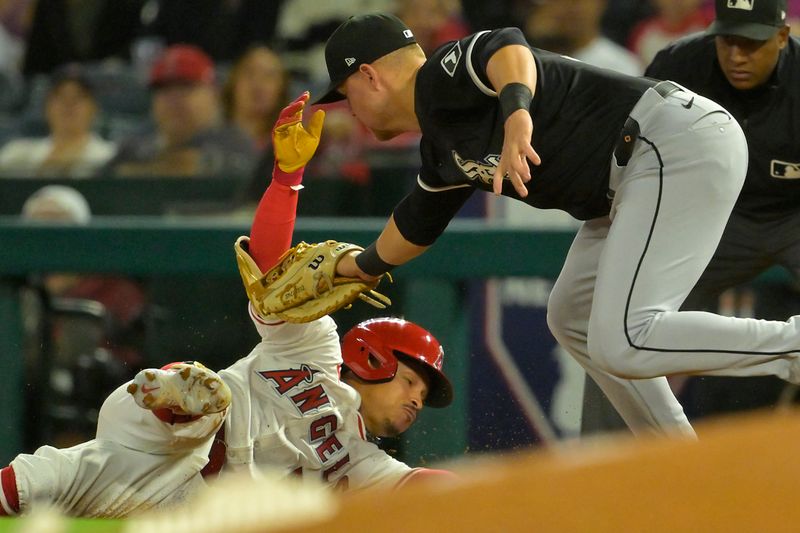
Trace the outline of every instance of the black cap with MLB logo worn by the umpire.
<path fill-rule="evenodd" d="M 786 0 L 716 0 L 709 35 L 738 35 L 766 41 L 786 25 Z"/>

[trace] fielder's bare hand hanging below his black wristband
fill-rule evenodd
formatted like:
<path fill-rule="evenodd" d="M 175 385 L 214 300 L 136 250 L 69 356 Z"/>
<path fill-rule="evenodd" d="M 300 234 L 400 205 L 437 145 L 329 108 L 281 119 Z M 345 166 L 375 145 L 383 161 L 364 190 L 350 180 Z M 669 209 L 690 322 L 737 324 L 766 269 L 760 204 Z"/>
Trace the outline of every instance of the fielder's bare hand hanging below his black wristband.
<path fill-rule="evenodd" d="M 534 165 L 542 162 L 539 154 L 531 146 L 533 137 L 533 120 L 525 109 L 518 109 L 508 117 L 505 123 L 503 152 L 500 163 L 494 172 L 492 189 L 499 195 L 503 191 L 503 177 L 508 176 L 514 190 L 520 197 L 528 196 L 525 184 L 531 180 L 531 169 L 528 161 Z"/>

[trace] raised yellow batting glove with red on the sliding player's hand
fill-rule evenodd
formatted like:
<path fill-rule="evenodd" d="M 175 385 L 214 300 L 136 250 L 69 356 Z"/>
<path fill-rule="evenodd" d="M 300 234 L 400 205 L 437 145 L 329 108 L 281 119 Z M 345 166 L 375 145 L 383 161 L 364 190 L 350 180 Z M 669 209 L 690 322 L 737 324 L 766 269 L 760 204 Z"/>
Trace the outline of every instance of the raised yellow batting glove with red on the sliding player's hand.
<path fill-rule="evenodd" d="M 311 160 L 319 146 L 325 111 L 319 109 L 303 126 L 303 109 L 310 95 L 308 91 L 284 107 L 272 129 L 275 163 L 284 172 L 296 172 Z"/>

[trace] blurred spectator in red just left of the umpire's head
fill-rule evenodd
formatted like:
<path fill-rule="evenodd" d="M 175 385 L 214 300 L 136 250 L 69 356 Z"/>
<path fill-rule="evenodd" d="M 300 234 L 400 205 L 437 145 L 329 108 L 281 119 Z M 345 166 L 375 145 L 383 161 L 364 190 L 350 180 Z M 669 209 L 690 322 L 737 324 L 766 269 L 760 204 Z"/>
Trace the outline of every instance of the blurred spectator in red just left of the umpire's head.
<path fill-rule="evenodd" d="M 628 48 L 649 64 L 666 45 L 698 31 L 703 31 L 714 19 L 713 5 L 703 6 L 703 0 L 653 0 L 656 14 L 641 21 L 631 33 Z"/>

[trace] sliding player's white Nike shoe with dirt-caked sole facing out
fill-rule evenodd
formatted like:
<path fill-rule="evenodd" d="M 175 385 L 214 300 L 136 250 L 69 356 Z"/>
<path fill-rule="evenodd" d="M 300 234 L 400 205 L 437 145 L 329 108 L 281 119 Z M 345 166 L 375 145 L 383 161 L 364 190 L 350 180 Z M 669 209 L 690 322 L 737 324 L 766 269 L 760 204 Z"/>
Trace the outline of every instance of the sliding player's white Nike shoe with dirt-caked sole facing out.
<path fill-rule="evenodd" d="M 197 362 L 142 370 L 128 385 L 128 392 L 144 409 L 169 409 L 181 415 L 218 413 L 231 403 L 230 388 Z"/>

